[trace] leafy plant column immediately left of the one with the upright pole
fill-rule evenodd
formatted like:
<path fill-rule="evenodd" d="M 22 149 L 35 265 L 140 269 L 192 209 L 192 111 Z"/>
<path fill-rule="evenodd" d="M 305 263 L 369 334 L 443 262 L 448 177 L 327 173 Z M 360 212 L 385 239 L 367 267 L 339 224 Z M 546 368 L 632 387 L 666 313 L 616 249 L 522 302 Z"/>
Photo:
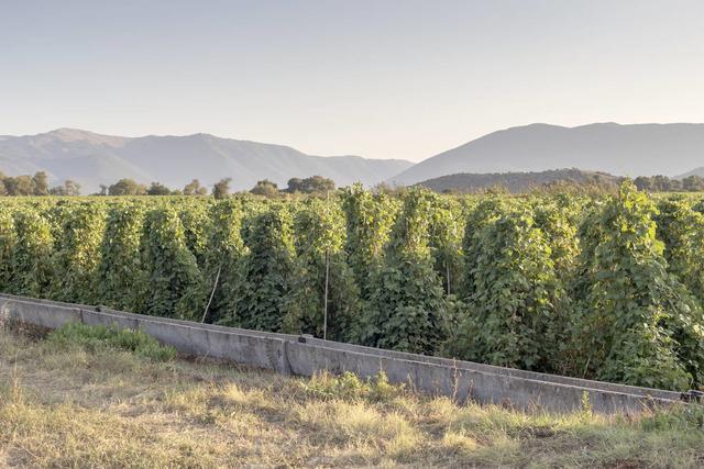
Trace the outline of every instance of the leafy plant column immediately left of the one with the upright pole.
<path fill-rule="evenodd" d="M 280 331 L 292 291 L 292 215 L 282 205 L 272 206 L 244 226 L 249 253 L 243 259 L 238 306 L 223 319 L 223 324 Z"/>

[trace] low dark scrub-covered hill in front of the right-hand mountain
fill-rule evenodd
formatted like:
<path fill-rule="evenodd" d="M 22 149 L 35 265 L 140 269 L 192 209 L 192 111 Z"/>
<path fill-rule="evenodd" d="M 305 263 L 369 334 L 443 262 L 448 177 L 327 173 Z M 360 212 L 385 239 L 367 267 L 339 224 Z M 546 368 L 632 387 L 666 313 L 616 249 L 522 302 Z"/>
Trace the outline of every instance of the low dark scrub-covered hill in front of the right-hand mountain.
<path fill-rule="evenodd" d="M 422 186 L 436 192 L 481 192 L 492 188 L 504 188 L 512 193 L 520 193 L 556 182 L 615 188 L 622 179 L 606 172 L 582 171 L 571 168 L 534 172 L 460 172 L 428 179 L 416 186 Z"/>

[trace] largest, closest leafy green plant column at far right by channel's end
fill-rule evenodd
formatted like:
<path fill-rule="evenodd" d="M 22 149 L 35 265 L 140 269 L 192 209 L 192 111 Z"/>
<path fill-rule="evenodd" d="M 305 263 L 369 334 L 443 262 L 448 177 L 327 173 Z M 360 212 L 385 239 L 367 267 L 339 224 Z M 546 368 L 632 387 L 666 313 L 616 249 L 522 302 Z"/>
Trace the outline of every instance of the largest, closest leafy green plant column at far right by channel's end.
<path fill-rule="evenodd" d="M 626 181 L 582 227 L 575 349 L 587 377 L 684 390 L 701 383 L 698 304 L 667 271 L 652 202 Z"/>

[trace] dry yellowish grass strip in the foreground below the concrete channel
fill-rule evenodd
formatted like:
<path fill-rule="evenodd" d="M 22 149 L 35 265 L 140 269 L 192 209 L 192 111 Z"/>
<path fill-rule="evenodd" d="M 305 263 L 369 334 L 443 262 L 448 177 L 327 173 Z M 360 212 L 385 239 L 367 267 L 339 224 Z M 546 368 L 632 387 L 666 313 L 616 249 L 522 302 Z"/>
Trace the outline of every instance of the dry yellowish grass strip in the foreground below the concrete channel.
<path fill-rule="evenodd" d="M 0 466 L 701 467 L 700 411 L 458 406 L 384 382 L 153 362 L 0 332 Z"/>

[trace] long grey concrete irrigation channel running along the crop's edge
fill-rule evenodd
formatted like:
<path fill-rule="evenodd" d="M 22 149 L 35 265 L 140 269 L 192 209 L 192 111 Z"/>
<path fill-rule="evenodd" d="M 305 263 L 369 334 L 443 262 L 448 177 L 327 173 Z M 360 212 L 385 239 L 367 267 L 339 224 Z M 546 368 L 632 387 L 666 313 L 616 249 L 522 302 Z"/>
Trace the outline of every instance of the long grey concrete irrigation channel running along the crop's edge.
<path fill-rule="evenodd" d="M 569 412 L 585 395 L 598 413 L 635 413 L 686 401 L 690 394 L 614 384 L 513 368 L 383 350 L 310 336 L 199 324 L 125 313 L 103 306 L 61 303 L 0 294 L 0 315 L 10 321 L 56 328 L 68 322 L 142 330 L 187 355 L 232 360 L 282 375 L 312 376 L 328 370 L 367 378 L 384 371 L 389 381 L 460 402 L 509 404 L 517 409 Z"/>

